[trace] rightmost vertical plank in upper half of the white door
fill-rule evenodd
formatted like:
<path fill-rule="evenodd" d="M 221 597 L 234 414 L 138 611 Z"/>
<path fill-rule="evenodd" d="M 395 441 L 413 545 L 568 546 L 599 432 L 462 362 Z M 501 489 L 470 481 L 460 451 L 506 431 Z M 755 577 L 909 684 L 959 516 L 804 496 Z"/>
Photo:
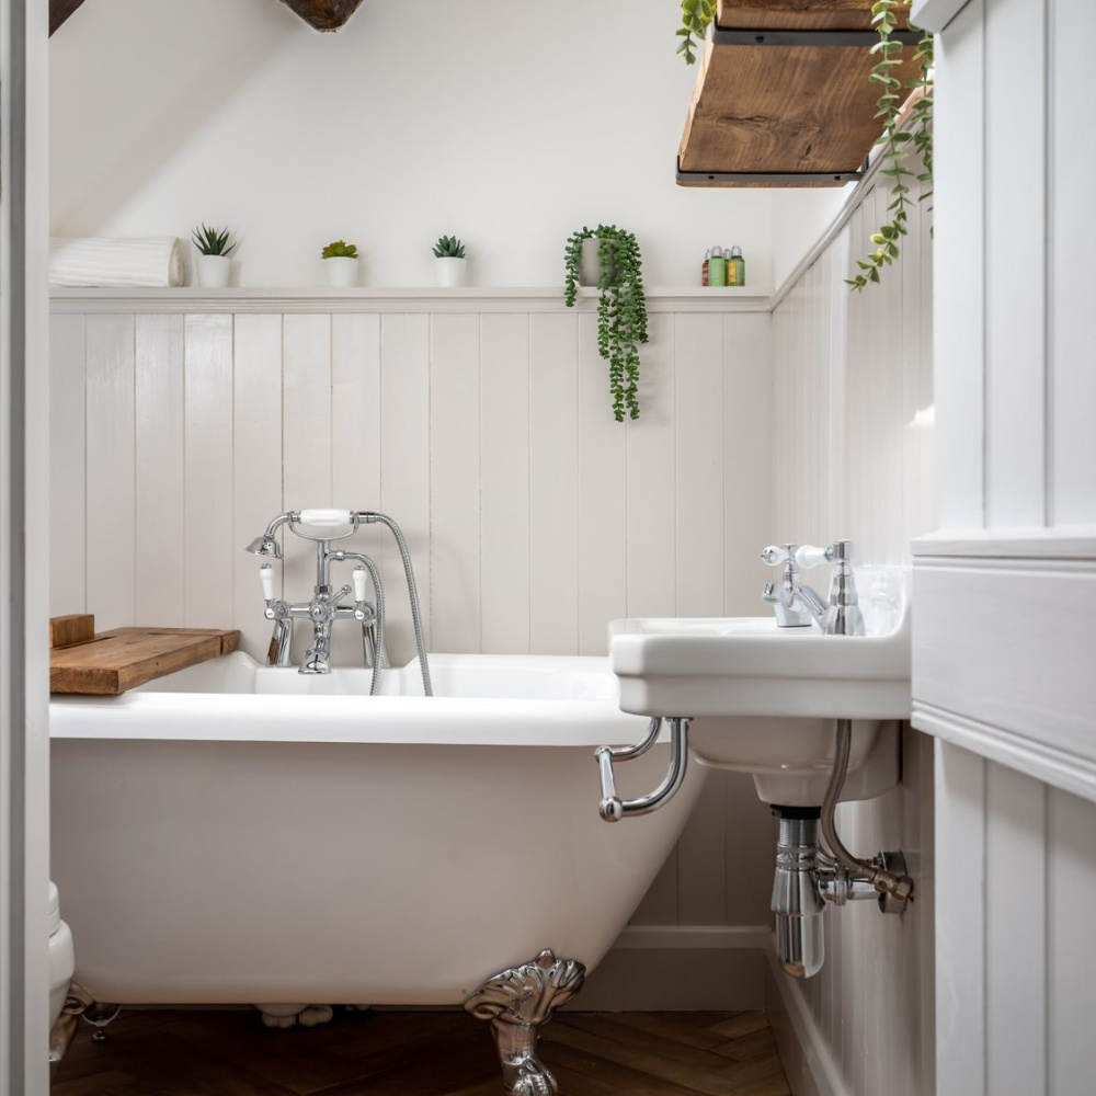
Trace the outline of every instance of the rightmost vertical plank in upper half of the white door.
<path fill-rule="evenodd" d="M 1086 95 L 1075 91 L 1096 41 L 1096 5 L 1086 0 L 1051 4 L 1050 167 L 1053 180 L 1047 299 L 1052 352 L 1049 429 L 1051 520 L 1058 525 L 1096 522 L 1096 332 L 1092 322 L 1092 263 L 1077 247 L 1077 226 L 1087 218 L 1096 145 Z M 1083 136 L 1083 135 L 1088 136 Z"/>

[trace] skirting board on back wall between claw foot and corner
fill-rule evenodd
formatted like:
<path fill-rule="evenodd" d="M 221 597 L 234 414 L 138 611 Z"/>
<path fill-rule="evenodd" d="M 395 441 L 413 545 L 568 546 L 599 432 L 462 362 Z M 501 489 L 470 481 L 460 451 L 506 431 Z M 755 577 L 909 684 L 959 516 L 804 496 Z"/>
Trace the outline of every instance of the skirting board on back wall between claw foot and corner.
<path fill-rule="evenodd" d="M 692 1012 L 765 1007 L 767 925 L 636 926 L 568 1007 L 576 1012 Z"/>

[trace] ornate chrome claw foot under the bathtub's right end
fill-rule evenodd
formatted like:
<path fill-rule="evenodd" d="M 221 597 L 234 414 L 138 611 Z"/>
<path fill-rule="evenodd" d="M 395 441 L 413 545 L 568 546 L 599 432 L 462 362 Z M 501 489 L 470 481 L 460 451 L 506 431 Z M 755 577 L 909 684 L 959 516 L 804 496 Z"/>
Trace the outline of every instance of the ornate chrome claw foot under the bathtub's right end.
<path fill-rule="evenodd" d="M 472 1016 L 491 1021 L 503 1087 L 512 1096 L 556 1096 L 556 1077 L 537 1053 L 540 1028 L 582 989 L 585 977 L 581 962 L 557 959 L 545 948 L 535 959 L 489 978 L 465 1002 Z"/>

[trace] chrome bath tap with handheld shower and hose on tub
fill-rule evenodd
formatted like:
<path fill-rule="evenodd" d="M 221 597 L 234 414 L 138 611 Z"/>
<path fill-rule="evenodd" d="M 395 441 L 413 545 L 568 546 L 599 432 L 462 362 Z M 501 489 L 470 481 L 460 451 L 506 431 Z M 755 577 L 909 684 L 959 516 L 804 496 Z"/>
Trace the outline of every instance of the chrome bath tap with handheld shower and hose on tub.
<path fill-rule="evenodd" d="M 430 667 L 426 660 L 426 649 L 423 641 L 422 625 L 419 614 L 419 598 L 415 592 L 414 573 L 411 557 L 403 534 L 399 526 L 385 514 L 373 511 L 353 510 L 302 510 L 287 511 L 275 517 L 265 532 L 248 545 L 247 550 L 264 559 L 282 559 L 282 548 L 274 534 L 283 525 L 305 540 L 316 544 L 316 585 L 312 597 L 307 603 L 290 603 L 275 596 L 274 569 L 264 562 L 259 569 L 262 580 L 263 597 L 266 602 L 265 616 L 274 621 L 274 633 L 267 652 L 267 664 L 272 666 L 288 666 L 292 661 L 293 626 L 297 619 L 307 618 L 312 625 L 312 641 L 301 660 L 299 672 L 302 674 L 328 674 L 331 672 L 331 626 L 336 620 L 353 619 L 362 628 L 362 654 L 365 665 L 373 667 L 370 694 L 376 694 L 380 685 L 384 670 L 390 665 L 385 648 L 385 595 L 380 584 L 380 574 L 374 561 L 363 552 L 344 551 L 332 548 L 335 540 L 353 536 L 363 524 L 380 523 L 391 530 L 396 537 L 403 569 L 408 580 L 408 593 L 411 598 L 411 616 L 414 624 L 415 642 L 419 650 L 419 661 L 422 667 L 423 690 L 431 696 L 433 690 L 430 681 Z M 342 528 L 346 532 L 329 535 L 306 533 L 300 526 L 313 528 Z M 331 589 L 331 564 L 356 562 L 352 572 L 353 584 L 340 590 Z M 372 579 L 374 601 L 366 601 L 366 578 Z M 343 600 L 353 593 L 354 604 L 344 605 Z"/>

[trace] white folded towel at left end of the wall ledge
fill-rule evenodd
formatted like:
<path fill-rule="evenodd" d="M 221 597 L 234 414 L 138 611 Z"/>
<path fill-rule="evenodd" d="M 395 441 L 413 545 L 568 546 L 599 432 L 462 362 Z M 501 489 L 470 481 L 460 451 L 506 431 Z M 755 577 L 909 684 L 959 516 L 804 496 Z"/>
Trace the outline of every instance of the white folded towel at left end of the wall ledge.
<path fill-rule="evenodd" d="M 173 236 L 49 240 L 50 285 L 167 288 L 185 282 L 183 246 Z"/>

